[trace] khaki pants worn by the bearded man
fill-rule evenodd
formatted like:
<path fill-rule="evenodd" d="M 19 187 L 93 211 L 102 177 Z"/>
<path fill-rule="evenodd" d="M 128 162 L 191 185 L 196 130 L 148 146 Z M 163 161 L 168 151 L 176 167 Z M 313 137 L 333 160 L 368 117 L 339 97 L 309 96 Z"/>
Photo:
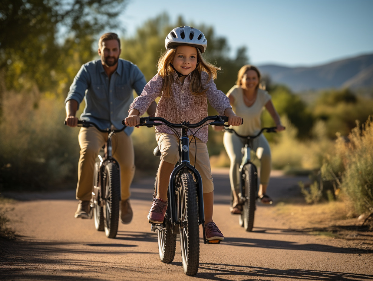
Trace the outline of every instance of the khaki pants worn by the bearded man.
<path fill-rule="evenodd" d="M 101 147 L 106 143 L 107 133 L 100 132 L 95 127 L 82 127 L 78 138 L 80 158 L 76 199 L 89 201 L 93 190 L 94 164 Z M 131 137 L 123 131 L 112 136 L 112 144 L 113 157 L 120 166 L 121 200 L 126 200 L 131 195 L 129 187 L 135 174 L 134 147 Z"/>

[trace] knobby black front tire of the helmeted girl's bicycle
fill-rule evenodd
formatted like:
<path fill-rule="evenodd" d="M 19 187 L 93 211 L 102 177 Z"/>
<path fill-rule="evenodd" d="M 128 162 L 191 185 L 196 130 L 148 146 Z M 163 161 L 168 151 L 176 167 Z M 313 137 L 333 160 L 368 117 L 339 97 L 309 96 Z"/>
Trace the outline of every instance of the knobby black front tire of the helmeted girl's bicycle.
<path fill-rule="evenodd" d="M 184 273 L 195 275 L 200 260 L 197 190 L 192 174 L 184 172 L 176 178 L 180 246 Z"/>

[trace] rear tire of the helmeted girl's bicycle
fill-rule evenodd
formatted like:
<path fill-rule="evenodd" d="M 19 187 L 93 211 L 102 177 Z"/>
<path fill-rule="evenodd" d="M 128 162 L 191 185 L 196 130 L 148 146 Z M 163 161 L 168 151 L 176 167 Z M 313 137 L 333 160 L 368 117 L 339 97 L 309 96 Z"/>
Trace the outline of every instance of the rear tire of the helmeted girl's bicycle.
<path fill-rule="evenodd" d="M 157 171 L 158 176 L 158 171 Z M 157 176 L 154 182 L 154 196 L 157 195 Z M 167 191 L 167 198 L 170 197 L 170 191 Z M 170 263 L 175 258 L 176 252 L 176 233 L 172 233 L 172 224 L 170 221 L 170 200 L 168 200 L 168 206 L 164 221 L 161 226 L 161 230 L 157 230 L 158 237 L 158 250 L 159 258 L 161 262 Z"/>

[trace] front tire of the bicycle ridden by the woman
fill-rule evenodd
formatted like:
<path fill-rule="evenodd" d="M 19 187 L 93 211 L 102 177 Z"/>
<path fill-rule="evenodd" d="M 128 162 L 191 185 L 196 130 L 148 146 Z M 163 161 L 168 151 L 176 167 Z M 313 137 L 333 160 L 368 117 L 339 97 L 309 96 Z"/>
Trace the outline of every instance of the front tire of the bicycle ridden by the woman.
<path fill-rule="evenodd" d="M 252 163 L 248 163 L 243 168 L 242 178 L 245 187 L 245 202 L 241 219 L 246 231 L 252 231 L 254 226 L 255 202 L 257 197 L 257 172 Z M 241 222 L 240 222 L 241 223 Z"/>

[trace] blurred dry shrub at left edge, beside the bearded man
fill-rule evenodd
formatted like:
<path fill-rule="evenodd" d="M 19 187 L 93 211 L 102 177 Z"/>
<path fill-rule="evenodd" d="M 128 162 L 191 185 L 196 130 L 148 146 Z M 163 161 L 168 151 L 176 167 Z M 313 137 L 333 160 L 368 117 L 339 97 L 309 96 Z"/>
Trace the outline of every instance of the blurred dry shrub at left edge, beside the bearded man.
<path fill-rule="evenodd" d="M 32 190 L 69 185 L 69 179 L 76 177 L 78 130 L 63 124 L 63 100 L 8 92 L 2 107 L 0 187 Z"/>

